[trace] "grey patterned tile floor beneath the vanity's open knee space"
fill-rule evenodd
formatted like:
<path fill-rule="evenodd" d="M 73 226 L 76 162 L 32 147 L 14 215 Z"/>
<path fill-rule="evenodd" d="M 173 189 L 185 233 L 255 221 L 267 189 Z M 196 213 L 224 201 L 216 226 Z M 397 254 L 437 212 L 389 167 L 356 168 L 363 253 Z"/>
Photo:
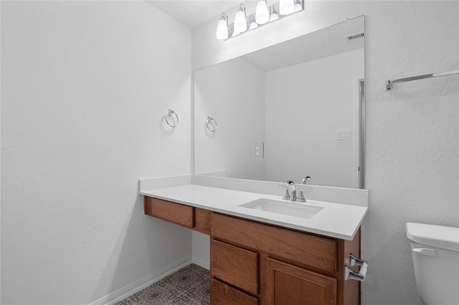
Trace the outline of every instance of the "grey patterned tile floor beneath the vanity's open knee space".
<path fill-rule="evenodd" d="M 114 305 L 209 305 L 209 270 L 191 264 Z"/>

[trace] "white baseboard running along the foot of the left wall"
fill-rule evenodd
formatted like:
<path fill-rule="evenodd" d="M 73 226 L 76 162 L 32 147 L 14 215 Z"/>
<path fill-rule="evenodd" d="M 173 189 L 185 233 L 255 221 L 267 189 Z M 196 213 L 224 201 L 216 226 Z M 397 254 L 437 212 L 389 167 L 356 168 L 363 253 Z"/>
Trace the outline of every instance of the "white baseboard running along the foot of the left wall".
<path fill-rule="evenodd" d="M 186 265 L 189 265 L 192 263 L 192 256 L 188 255 L 185 256 L 184 258 L 179 259 L 178 261 L 170 264 L 169 266 L 166 266 L 164 268 L 161 268 L 150 275 L 146 276 L 143 279 L 140 279 L 136 282 L 133 282 L 126 287 L 123 287 L 115 292 L 112 292 L 109 295 L 106 295 L 100 299 L 98 299 L 95 302 L 92 302 L 89 305 L 107 305 L 107 304 L 114 304 L 119 300 L 124 299 L 125 297 L 136 293 L 139 290 L 142 290 L 143 288 L 147 287 L 148 285 L 153 284 L 154 282 L 159 281 L 160 279 L 166 277 L 167 275 L 170 275 L 171 273 L 177 271 L 180 268 L 183 268 Z"/>

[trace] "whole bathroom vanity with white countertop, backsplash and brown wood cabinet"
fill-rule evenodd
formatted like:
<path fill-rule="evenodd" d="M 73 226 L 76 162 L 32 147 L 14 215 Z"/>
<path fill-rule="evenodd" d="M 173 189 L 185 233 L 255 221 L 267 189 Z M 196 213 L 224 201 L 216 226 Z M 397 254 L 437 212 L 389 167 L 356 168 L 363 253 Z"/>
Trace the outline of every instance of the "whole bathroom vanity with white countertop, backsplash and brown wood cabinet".
<path fill-rule="evenodd" d="M 210 235 L 211 304 L 360 304 L 360 282 L 346 280 L 346 267 L 359 274 L 349 255 L 360 257 L 367 191 L 334 190 L 356 205 L 308 199 L 299 204 L 318 211 L 301 218 L 247 207 L 260 198 L 291 204 L 281 195 L 218 187 L 237 179 L 190 175 L 180 177 L 189 183 L 171 186 L 172 178 L 141 181 L 145 215 Z M 159 189 L 145 190 L 152 183 Z M 309 196 L 327 193 L 323 188 L 330 189 L 308 186 Z"/>

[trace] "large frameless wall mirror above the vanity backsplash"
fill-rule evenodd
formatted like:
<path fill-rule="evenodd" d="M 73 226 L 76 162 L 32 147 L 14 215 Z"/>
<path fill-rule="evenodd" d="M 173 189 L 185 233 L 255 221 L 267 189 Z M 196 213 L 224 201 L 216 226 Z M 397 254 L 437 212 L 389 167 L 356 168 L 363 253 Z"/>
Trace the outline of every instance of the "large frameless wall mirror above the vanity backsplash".
<path fill-rule="evenodd" d="M 345 38 L 363 32 L 359 17 L 195 72 L 195 173 L 359 188 L 364 39 Z"/>

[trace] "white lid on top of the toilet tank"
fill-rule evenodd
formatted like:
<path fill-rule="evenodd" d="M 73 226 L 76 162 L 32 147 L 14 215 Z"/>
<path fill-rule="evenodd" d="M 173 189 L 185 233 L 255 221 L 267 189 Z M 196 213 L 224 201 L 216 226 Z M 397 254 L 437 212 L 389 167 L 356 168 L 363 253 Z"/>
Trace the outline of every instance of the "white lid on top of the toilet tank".
<path fill-rule="evenodd" d="M 423 245 L 459 251 L 459 228 L 407 223 L 407 237 Z"/>

